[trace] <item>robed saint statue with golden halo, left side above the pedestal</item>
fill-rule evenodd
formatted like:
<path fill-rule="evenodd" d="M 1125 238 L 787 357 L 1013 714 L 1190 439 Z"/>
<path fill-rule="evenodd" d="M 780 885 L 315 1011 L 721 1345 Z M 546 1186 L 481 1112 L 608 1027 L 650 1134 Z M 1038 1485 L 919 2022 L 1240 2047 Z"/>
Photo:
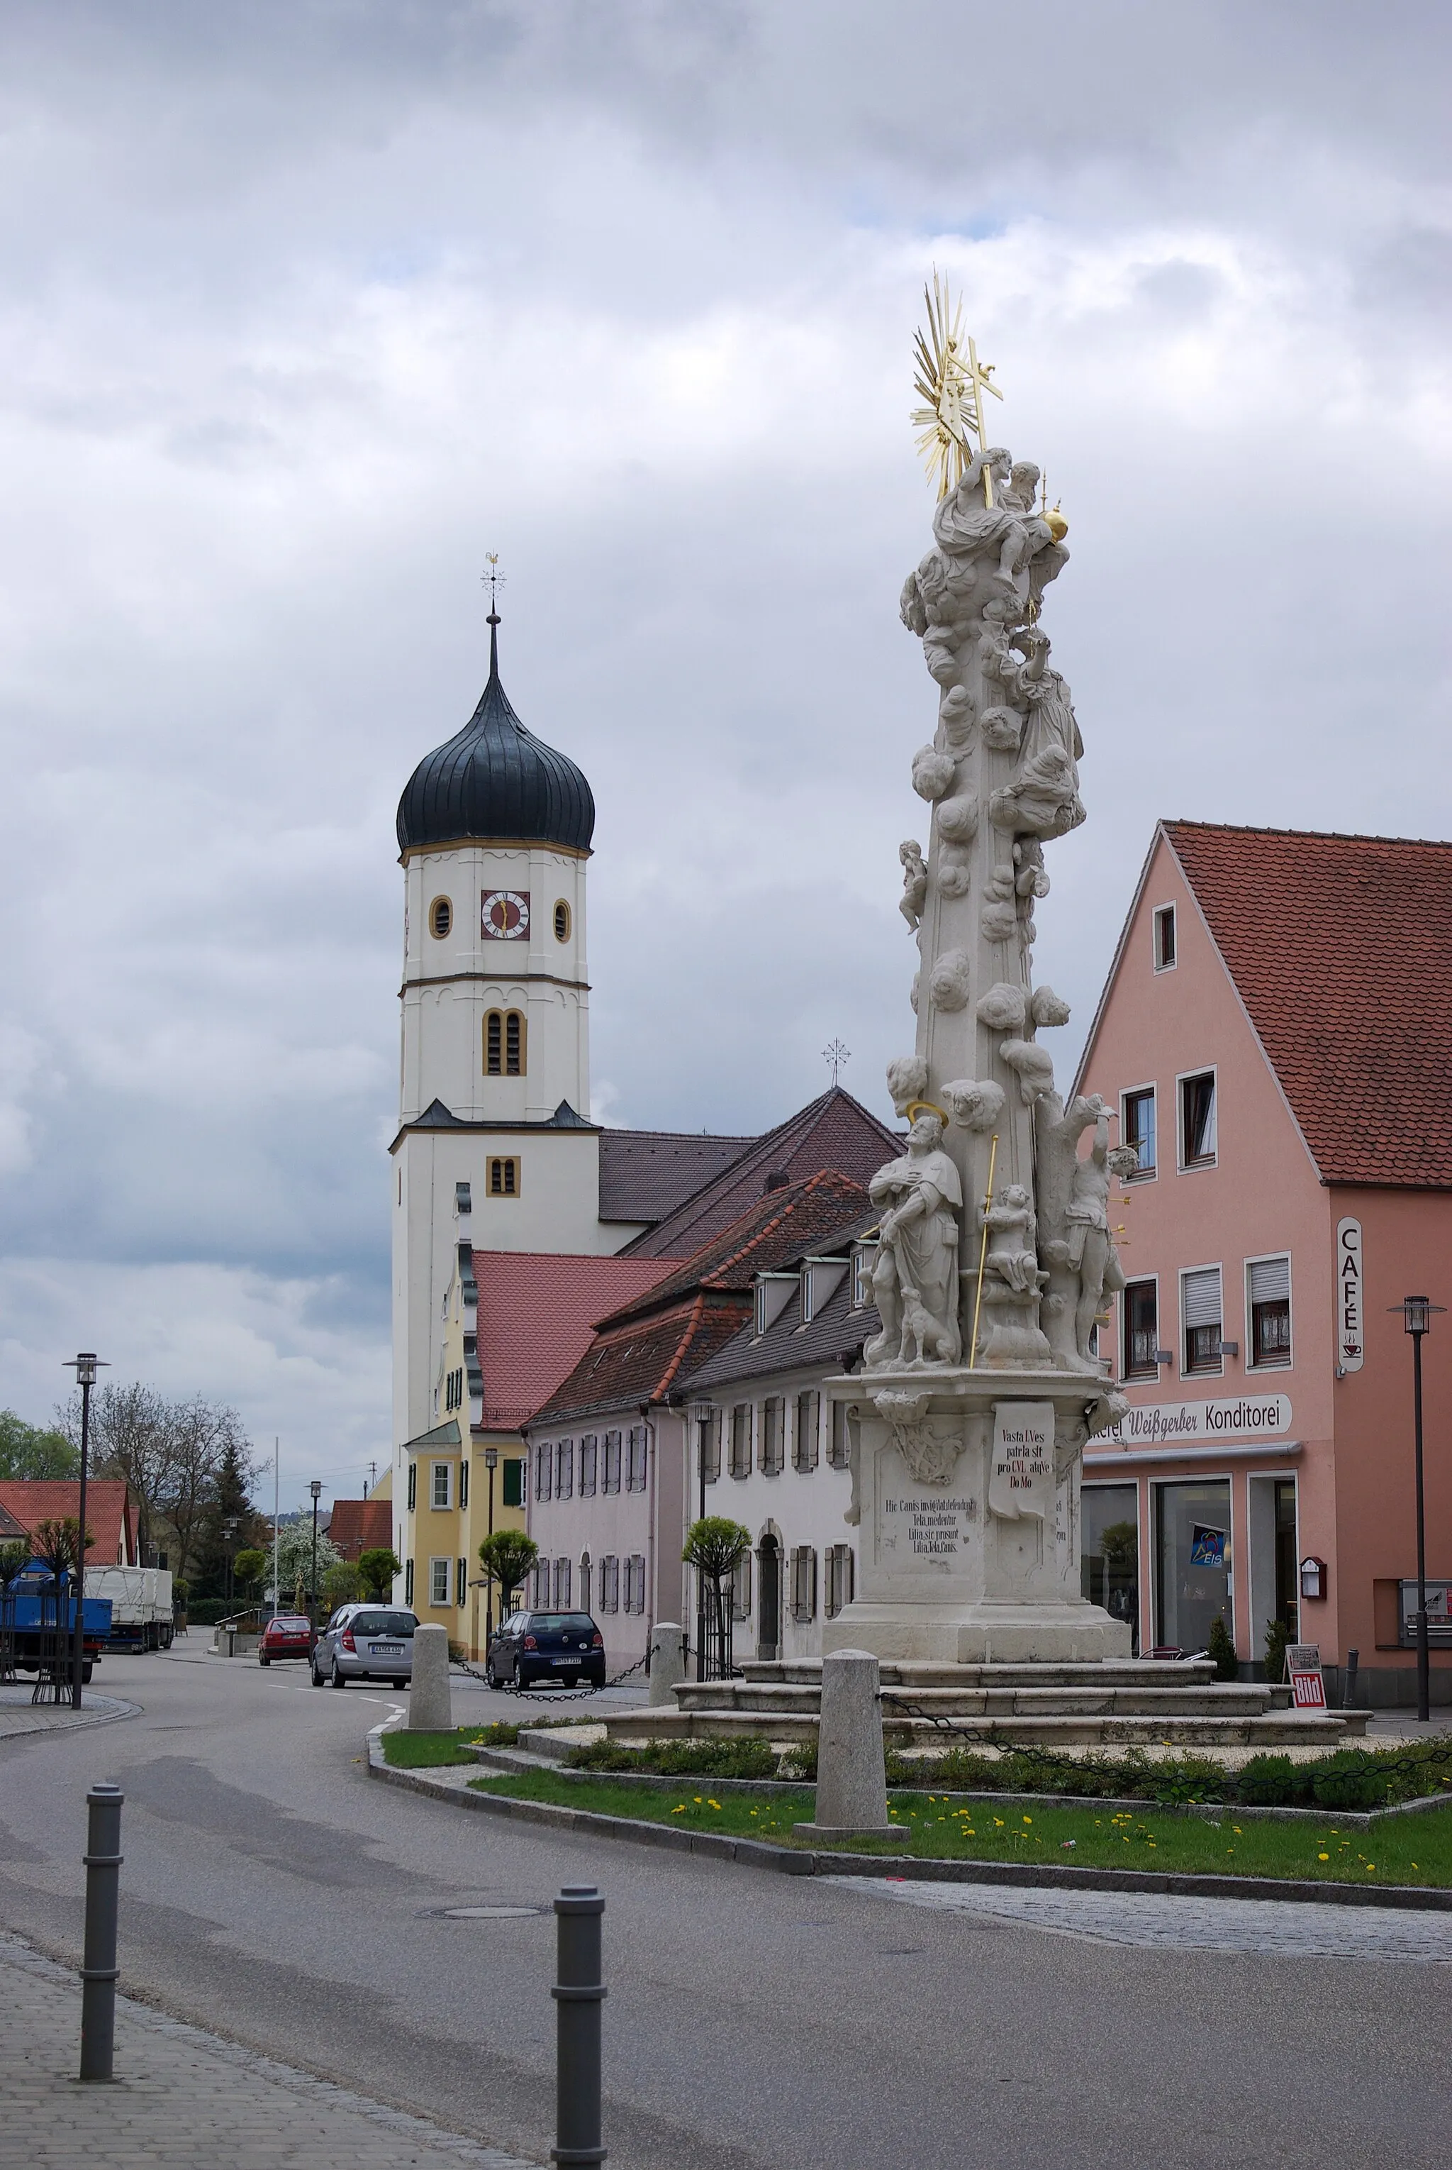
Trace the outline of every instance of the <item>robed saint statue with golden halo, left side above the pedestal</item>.
<path fill-rule="evenodd" d="M 942 1150 L 942 1115 L 918 1111 L 907 1131 L 907 1152 L 877 1170 L 868 1196 L 883 1207 L 883 1217 L 873 1269 L 881 1332 L 868 1343 L 866 1363 L 957 1363 L 957 1213 L 964 1189 Z"/>

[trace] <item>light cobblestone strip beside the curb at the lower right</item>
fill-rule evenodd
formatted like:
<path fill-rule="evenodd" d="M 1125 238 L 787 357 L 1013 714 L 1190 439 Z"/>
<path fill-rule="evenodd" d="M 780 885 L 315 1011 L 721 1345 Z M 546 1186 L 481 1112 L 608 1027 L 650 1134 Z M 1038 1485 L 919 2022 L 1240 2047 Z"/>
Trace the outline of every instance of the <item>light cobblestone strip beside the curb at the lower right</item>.
<path fill-rule="evenodd" d="M 823 1884 L 933 1912 L 992 1914 L 1024 1929 L 1081 1936 L 1100 1944 L 1452 1966 L 1452 1916 L 1413 1914 L 1400 1907 L 1183 1899 L 1172 1892 L 998 1890 L 983 1884 L 896 1884 L 888 1877 L 823 1877 Z"/>

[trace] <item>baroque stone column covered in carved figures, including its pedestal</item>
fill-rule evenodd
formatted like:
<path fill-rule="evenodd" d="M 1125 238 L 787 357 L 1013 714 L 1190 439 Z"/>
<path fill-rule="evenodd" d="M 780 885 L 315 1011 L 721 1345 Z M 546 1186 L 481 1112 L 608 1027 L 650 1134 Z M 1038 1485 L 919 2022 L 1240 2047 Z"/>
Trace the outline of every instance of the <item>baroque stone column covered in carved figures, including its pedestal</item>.
<path fill-rule="evenodd" d="M 1122 1287 L 1109 1189 L 1133 1154 L 1098 1100 L 1063 1107 L 1040 1039 L 1068 1022 L 1033 985 L 1046 846 L 1085 812 L 1083 742 L 1040 625 L 1066 527 L 1035 508 L 1037 482 L 1031 462 L 977 454 L 903 588 L 938 684 L 938 729 L 912 762 L 929 844 L 901 848 L 918 1029 L 888 1065 L 905 1152 L 873 1180 L 881 1330 L 864 1374 L 829 1384 L 855 1441 L 859 1573 L 825 1649 L 1129 1654 L 1129 1628 L 1079 1595 L 1081 1454 L 1122 1410 L 1092 1337 Z"/>

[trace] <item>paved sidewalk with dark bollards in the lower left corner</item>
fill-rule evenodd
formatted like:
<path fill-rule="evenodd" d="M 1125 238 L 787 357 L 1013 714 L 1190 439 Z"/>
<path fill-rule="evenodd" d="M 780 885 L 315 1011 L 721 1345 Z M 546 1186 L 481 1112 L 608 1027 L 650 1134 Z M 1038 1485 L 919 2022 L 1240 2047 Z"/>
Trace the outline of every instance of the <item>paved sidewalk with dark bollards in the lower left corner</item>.
<path fill-rule="evenodd" d="M 115 2083 L 78 2053 L 80 1979 L 0 1936 L 0 2170 L 538 2170 L 126 1996 Z"/>

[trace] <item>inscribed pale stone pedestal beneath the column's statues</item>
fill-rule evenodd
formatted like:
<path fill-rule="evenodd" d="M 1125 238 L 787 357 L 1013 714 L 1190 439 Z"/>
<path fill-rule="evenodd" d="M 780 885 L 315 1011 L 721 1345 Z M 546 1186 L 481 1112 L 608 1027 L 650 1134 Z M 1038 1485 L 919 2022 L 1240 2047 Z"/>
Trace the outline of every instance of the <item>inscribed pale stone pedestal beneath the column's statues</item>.
<path fill-rule="evenodd" d="M 1105 1382 L 1061 1369 L 903 1365 L 827 1382 L 846 1404 L 855 1597 L 823 1654 L 1055 1664 L 1129 1658 L 1079 1591 L 1081 1454 Z"/>

